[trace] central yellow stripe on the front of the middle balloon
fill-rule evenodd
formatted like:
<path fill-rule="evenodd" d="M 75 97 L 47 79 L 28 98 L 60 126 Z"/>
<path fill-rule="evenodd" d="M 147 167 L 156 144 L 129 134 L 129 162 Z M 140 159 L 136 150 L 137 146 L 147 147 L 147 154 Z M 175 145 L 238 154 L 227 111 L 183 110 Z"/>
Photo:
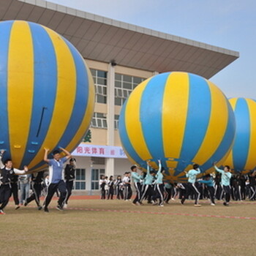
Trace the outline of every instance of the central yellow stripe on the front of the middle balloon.
<path fill-rule="evenodd" d="M 188 102 L 188 74 L 185 72 L 170 73 L 162 105 L 162 141 L 166 157 L 179 158 L 180 156 L 186 128 Z M 176 167 L 177 164 L 178 162 L 172 162 L 170 167 Z"/>

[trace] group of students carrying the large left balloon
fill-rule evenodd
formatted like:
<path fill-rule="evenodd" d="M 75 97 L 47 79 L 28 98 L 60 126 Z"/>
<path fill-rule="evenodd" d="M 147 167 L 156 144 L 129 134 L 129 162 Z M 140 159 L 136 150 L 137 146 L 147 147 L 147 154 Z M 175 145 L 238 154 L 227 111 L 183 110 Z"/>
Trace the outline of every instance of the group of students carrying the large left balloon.
<path fill-rule="evenodd" d="M 61 157 L 61 151 L 66 154 Z M 53 195 L 59 195 L 58 205 L 56 208 L 63 211 L 67 208 L 67 203 L 72 194 L 73 181 L 75 180 L 75 159 L 64 148 L 59 148 L 53 151 L 53 159 L 48 159 L 49 149 L 45 148 L 44 161 L 48 163 L 48 175 L 44 175 L 44 171 L 31 173 L 31 195 L 26 197 L 23 205 L 28 206 L 31 201 L 35 200 L 38 210 L 44 209 L 49 212 L 48 205 Z M 10 197 L 13 195 L 15 201 L 15 209 L 20 208 L 18 200 L 18 175 L 26 175 L 29 172 L 27 166 L 23 170 L 18 170 L 12 166 L 11 159 L 4 159 L 4 150 L 0 151 L 0 214 L 4 213 L 4 208 L 9 203 Z M 69 159 L 69 164 L 64 166 L 64 163 Z M 45 200 L 40 203 L 40 195 L 45 185 Z"/>

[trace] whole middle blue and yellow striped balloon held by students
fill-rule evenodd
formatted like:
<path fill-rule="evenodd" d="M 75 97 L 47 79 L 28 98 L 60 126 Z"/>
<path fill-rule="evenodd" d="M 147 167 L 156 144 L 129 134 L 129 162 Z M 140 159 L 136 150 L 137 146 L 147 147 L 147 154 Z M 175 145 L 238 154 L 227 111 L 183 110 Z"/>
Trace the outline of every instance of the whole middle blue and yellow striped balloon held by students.
<path fill-rule="evenodd" d="M 165 179 L 186 181 L 193 163 L 203 173 L 221 164 L 235 135 L 233 110 L 210 81 L 187 72 L 167 72 L 140 83 L 125 102 L 119 135 L 130 161 L 165 167 Z"/>

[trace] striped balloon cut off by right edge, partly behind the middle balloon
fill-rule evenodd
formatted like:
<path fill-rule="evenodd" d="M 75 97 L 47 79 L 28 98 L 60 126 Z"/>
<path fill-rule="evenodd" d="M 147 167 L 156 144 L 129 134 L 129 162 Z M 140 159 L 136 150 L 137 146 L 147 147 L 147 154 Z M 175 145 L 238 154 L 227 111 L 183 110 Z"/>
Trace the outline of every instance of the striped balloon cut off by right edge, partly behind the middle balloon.
<path fill-rule="evenodd" d="M 249 173 L 256 168 L 256 102 L 253 99 L 229 99 L 236 118 L 234 146 L 225 165 L 235 172 Z"/>

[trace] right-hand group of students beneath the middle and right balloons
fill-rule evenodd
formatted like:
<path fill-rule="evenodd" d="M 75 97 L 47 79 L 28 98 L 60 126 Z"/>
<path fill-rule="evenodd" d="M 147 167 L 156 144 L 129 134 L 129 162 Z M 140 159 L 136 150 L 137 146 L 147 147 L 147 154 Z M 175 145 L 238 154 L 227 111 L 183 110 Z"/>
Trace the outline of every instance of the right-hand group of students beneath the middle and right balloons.
<path fill-rule="evenodd" d="M 224 200 L 223 205 L 229 206 L 230 199 L 233 200 L 256 200 L 256 171 L 248 176 L 233 175 L 230 167 L 225 165 L 224 169 L 219 169 L 214 165 L 217 174 L 211 173 L 203 178 L 197 178 L 200 174 L 199 165 L 193 165 L 192 170 L 184 172 L 188 178 L 187 183 L 170 183 L 163 181 L 165 170 L 159 161 L 159 169 L 154 171 L 147 162 L 147 172 L 140 172 L 140 169 L 133 165 L 131 171 L 124 173 L 124 178 L 118 176 L 116 180 L 113 176 L 101 176 L 99 186 L 101 189 L 101 199 L 130 200 L 132 197 L 132 182 L 136 190 L 136 197 L 132 201 L 133 205 L 143 205 L 143 200 L 148 203 L 164 206 L 164 203 L 178 198 L 181 204 L 185 200 L 195 200 L 195 206 L 200 206 L 200 199 L 209 199 L 211 206 L 215 206 L 215 200 Z M 139 174 L 140 172 L 140 174 Z"/>

